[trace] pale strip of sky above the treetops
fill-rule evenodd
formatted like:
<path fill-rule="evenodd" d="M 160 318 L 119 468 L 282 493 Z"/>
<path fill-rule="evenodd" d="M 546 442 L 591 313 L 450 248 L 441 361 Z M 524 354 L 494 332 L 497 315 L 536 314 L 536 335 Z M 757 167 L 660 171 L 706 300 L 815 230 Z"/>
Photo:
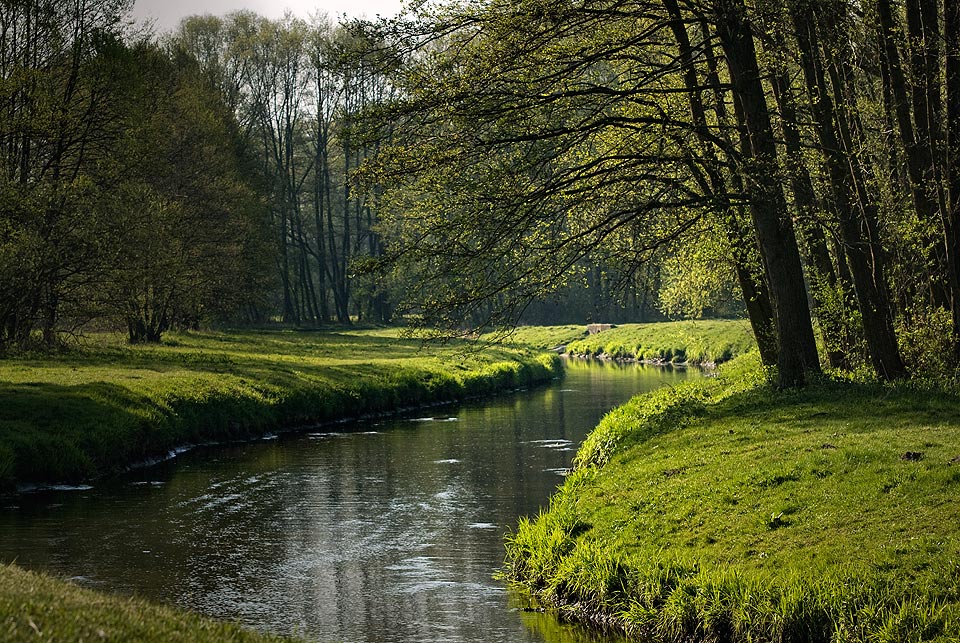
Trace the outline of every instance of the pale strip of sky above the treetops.
<path fill-rule="evenodd" d="M 400 12 L 402 0 L 136 0 L 133 17 L 152 20 L 158 33 L 177 26 L 181 18 L 195 14 L 223 15 L 249 9 L 268 18 L 279 18 L 289 9 L 307 18 L 318 10 L 331 18 L 347 14 L 352 18 L 393 16 Z"/>

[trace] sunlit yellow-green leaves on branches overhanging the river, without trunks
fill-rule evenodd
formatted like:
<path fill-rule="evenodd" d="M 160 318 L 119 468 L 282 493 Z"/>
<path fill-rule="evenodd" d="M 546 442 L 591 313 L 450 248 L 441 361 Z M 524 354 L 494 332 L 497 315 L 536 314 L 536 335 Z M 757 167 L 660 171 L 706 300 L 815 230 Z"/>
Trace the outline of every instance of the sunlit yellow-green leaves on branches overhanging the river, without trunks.
<path fill-rule="evenodd" d="M 385 110 L 397 127 L 368 168 L 386 189 L 388 257 L 412 277 L 406 304 L 428 324 L 485 327 L 523 319 L 531 301 L 563 301 L 581 281 L 590 288 L 577 304 L 595 314 L 611 311 L 613 292 L 652 292 L 641 263 L 709 199 L 684 169 L 684 98 L 656 69 L 651 21 L 539 2 L 448 5 L 425 18 L 388 29 L 404 46 L 425 26 L 443 36 L 398 74 L 403 98 Z M 649 55 L 620 55 L 641 40 Z"/>

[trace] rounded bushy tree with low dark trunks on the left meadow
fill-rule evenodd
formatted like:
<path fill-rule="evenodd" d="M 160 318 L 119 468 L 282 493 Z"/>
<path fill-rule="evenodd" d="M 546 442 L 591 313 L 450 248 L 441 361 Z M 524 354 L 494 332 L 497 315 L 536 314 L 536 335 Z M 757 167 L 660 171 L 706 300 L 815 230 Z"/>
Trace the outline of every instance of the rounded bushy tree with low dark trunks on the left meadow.
<path fill-rule="evenodd" d="M 131 59 L 104 305 L 132 343 L 157 342 L 175 325 L 238 308 L 262 270 L 266 239 L 261 201 L 241 173 L 234 116 L 219 93 L 183 55 L 144 43 Z"/>

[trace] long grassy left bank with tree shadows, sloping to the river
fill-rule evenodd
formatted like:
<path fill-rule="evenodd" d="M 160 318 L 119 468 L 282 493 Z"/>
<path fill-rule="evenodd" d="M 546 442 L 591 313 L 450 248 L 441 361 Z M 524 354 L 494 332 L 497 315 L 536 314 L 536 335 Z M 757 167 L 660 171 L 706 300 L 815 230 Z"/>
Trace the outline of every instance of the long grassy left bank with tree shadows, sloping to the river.
<path fill-rule="evenodd" d="M 518 346 L 464 353 L 393 331 L 95 336 L 63 355 L 0 360 L 0 489 L 76 482 L 178 446 L 243 439 L 550 379 Z"/>

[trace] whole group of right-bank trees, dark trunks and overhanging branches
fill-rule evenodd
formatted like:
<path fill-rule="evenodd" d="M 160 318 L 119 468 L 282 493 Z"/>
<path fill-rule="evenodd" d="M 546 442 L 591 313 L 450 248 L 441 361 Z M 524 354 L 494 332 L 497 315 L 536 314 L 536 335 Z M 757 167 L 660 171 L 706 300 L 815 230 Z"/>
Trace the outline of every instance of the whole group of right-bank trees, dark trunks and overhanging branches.
<path fill-rule="evenodd" d="M 820 370 L 814 321 L 834 367 L 953 363 L 957 23 L 955 0 L 488 0 L 386 26 L 416 52 L 376 169 L 391 252 L 455 324 L 706 238 L 783 386 Z"/>

